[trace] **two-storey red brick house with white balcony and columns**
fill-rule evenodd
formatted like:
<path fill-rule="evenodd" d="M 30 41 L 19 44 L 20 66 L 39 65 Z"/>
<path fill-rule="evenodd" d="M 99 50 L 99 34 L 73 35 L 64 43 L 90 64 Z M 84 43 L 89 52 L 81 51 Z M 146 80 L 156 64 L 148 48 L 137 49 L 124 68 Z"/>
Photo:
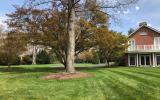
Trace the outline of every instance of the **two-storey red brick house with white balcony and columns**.
<path fill-rule="evenodd" d="M 160 66 L 160 31 L 142 22 L 128 39 L 128 66 Z"/>

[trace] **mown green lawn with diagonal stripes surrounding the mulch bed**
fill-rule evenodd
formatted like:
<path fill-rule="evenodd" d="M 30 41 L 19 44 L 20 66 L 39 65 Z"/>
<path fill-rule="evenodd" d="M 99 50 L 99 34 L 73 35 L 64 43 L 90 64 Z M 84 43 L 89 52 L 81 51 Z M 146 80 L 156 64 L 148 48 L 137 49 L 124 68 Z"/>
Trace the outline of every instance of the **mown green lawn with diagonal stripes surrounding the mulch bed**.
<path fill-rule="evenodd" d="M 78 64 L 78 71 L 94 77 L 42 79 L 63 72 L 55 66 L 60 65 L 21 65 L 10 70 L 0 67 L 0 100 L 160 100 L 160 68 L 92 68 L 92 64 Z"/>

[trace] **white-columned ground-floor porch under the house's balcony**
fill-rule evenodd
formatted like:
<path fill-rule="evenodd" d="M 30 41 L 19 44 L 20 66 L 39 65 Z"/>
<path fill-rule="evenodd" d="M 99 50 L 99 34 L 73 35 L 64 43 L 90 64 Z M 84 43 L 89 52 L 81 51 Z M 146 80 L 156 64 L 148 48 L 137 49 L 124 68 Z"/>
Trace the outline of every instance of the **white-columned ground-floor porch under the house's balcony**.
<path fill-rule="evenodd" d="M 128 66 L 160 66 L 160 53 L 128 53 Z"/>

